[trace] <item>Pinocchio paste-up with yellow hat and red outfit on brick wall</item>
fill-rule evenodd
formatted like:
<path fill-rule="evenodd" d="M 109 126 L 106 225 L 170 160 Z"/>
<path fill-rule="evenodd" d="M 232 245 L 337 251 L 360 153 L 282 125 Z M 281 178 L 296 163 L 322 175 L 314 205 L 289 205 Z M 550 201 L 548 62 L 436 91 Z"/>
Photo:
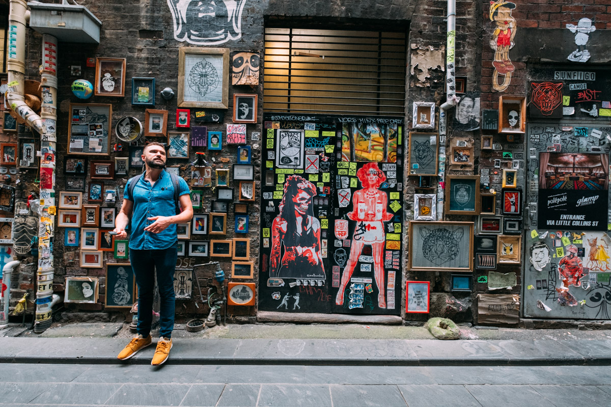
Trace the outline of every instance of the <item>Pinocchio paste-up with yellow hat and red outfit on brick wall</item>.
<path fill-rule="evenodd" d="M 494 49 L 494 74 L 492 76 L 492 87 L 497 92 L 503 92 L 511 83 L 511 73 L 514 71 L 513 63 L 509 59 L 509 50 L 513 48 L 513 38 L 516 36 L 516 20 L 511 16 L 511 10 L 516 4 L 508 1 L 497 0 L 490 2 L 490 21 L 496 23 L 496 28 L 490 39 L 490 48 Z M 502 84 L 499 84 L 499 74 L 505 76 Z"/>

